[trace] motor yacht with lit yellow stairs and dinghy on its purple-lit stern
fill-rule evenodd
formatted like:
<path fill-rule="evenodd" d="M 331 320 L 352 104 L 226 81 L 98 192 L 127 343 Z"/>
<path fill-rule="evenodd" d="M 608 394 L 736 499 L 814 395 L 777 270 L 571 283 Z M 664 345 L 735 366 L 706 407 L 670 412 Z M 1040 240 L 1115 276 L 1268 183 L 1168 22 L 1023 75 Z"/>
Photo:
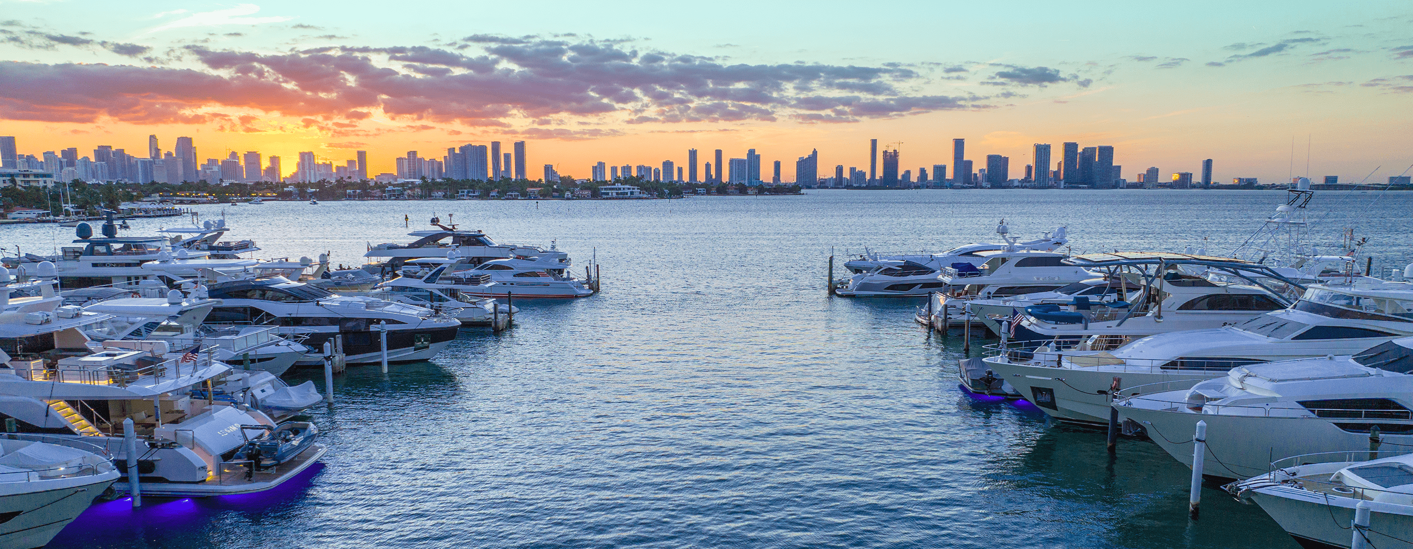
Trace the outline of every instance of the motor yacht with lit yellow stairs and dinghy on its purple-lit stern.
<path fill-rule="evenodd" d="M 20 433 L 99 446 L 122 473 L 127 471 L 123 423 L 131 419 L 141 452 L 138 483 L 147 495 L 264 491 L 324 456 L 326 447 L 305 438 L 298 453 L 285 453 L 274 464 L 261 461 L 249 445 L 270 440 L 281 423 L 243 404 L 192 397 L 202 387 L 211 395 L 211 387 L 230 373 L 211 357 L 205 349 L 171 360 L 143 350 L 105 350 L 41 368 L 13 368 L 14 374 L 0 374 L 0 395 L 6 395 L 0 414 L 14 419 Z M 113 487 L 131 490 L 127 478 Z"/>

